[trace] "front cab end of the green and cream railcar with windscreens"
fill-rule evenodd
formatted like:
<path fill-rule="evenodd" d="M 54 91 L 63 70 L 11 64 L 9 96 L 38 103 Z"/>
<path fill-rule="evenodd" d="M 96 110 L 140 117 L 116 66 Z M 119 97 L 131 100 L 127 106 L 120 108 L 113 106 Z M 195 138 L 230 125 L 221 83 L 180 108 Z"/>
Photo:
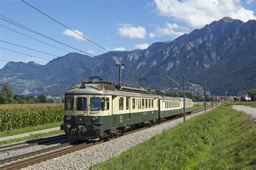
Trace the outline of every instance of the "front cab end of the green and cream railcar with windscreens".
<path fill-rule="evenodd" d="M 60 129 L 72 139 L 99 140 L 104 129 L 110 128 L 110 98 L 100 84 L 75 84 L 65 93 L 64 123 Z"/>

